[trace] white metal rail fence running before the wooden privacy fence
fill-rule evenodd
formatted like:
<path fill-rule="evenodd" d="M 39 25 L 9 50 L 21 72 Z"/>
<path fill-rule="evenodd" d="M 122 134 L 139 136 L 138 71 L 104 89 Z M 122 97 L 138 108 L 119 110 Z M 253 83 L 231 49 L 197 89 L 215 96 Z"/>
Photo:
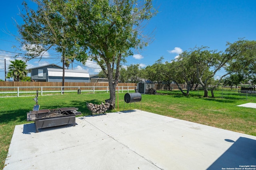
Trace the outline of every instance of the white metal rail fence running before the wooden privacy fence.
<path fill-rule="evenodd" d="M 117 86 L 116 92 L 123 93 L 136 89 L 137 86 Z M 62 95 L 64 93 L 108 93 L 108 86 L 21 86 L 21 87 L 3 87 L 0 86 L 0 97 L 21 97 L 43 95 Z M 33 95 L 32 95 L 33 94 Z"/>

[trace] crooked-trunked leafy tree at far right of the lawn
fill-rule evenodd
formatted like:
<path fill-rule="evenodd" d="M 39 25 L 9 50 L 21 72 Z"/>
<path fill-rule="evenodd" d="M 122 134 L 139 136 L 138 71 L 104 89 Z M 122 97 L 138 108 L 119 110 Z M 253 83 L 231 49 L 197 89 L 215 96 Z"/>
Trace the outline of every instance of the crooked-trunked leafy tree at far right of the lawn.
<path fill-rule="evenodd" d="M 204 97 L 208 97 L 208 81 L 221 68 L 226 70 L 226 74 L 221 76 L 215 86 L 212 87 L 212 97 L 214 97 L 214 89 L 223 77 L 244 70 L 255 61 L 256 41 L 238 39 L 234 43 L 227 43 L 227 46 L 225 52 L 209 51 L 208 47 L 195 47 L 192 49 L 192 63 L 196 66 L 197 78 L 204 89 Z M 207 76 L 206 70 L 210 70 Z"/>

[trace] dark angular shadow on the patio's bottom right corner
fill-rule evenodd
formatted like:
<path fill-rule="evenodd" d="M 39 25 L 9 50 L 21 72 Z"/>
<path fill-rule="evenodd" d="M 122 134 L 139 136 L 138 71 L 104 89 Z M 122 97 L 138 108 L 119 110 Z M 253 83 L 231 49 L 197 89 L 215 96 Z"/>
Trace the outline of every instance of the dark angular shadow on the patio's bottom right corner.
<path fill-rule="evenodd" d="M 241 168 L 242 165 L 255 165 L 256 140 L 240 137 L 237 141 L 225 139 L 234 143 L 207 170 L 221 170 L 222 168 Z M 254 167 L 255 168 L 255 167 Z"/>

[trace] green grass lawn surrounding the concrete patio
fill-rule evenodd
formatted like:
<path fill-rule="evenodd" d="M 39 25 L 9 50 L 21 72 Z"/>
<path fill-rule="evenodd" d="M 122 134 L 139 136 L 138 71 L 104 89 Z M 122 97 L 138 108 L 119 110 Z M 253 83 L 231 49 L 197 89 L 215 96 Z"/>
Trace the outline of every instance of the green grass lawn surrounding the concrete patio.
<path fill-rule="evenodd" d="M 134 105 L 124 103 L 124 95 L 118 94 L 114 111 L 118 110 L 118 103 L 119 111 L 142 107 L 144 111 L 256 136 L 255 109 L 237 107 L 248 102 L 256 103 L 256 96 L 246 98 L 238 92 L 215 91 L 216 98 L 203 98 L 202 91 L 191 91 L 190 96 L 182 96 L 178 91 L 158 91 L 157 95 L 142 94 L 141 103 Z M 26 121 L 26 112 L 32 110 L 33 98 L 0 98 L 0 169 L 4 167 L 15 125 L 31 123 Z M 86 116 L 90 115 L 86 102 L 100 104 L 108 98 L 109 94 L 74 93 L 39 96 L 38 104 L 40 109 L 78 107 L 78 111 Z"/>

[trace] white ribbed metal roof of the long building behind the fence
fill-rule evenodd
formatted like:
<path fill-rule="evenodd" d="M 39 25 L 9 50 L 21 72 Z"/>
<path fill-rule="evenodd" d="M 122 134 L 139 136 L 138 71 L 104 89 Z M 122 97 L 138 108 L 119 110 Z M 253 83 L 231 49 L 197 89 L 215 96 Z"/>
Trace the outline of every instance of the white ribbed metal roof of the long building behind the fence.
<path fill-rule="evenodd" d="M 48 76 L 62 77 L 62 69 L 47 68 Z M 86 77 L 90 78 L 90 75 L 85 70 L 68 70 L 65 69 L 65 77 Z"/>

